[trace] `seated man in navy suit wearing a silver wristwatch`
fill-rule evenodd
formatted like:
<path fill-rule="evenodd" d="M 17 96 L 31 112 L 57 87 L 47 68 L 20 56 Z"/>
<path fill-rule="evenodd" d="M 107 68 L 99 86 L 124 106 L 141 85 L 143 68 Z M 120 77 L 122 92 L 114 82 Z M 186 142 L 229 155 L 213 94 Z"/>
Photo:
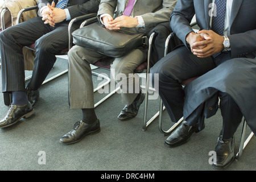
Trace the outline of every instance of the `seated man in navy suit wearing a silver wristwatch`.
<path fill-rule="evenodd" d="M 250 12 L 250 13 L 248 13 Z M 189 26 L 193 15 L 196 14 L 196 22 L 200 27 L 197 34 Z M 255 50 L 256 50 L 256 2 L 255 1 L 221 1 L 215 0 L 214 5 L 212 0 L 208 1 L 193 1 L 181 0 L 178 1 L 175 10 L 171 14 L 170 26 L 177 37 L 184 43 L 183 46 L 170 52 L 166 57 L 158 61 L 152 67 L 151 73 L 159 73 L 159 88 L 158 92 L 163 100 L 164 106 L 170 115 L 173 122 L 177 122 L 184 113 L 187 113 L 188 105 L 191 102 L 196 102 L 199 99 L 206 100 L 203 92 L 193 92 L 189 98 L 193 98 L 185 102 L 184 90 L 181 86 L 183 80 L 191 77 L 201 76 L 212 70 L 216 73 L 216 77 L 202 76 L 204 83 L 212 85 L 214 78 L 230 78 L 234 73 L 232 69 L 225 69 L 220 72 L 222 67 L 230 67 L 246 72 L 250 77 L 254 77 L 253 69 L 245 70 L 245 68 L 234 67 L 233 64 L 250 65 L 250 68 L 255 68 Z M 239 58 L 238 58 L 239 57 Z M 216 68 L 217 67 L 217 68 Z M 223 69 L 222 69 L 223 70 Z M 246 75 L 246 74 L 245 74 Z M 201 77 L 200 77 L 201 78 Z M 247 76 L 243 78 L 246 80 Z M 154 79 L 152 79 L 154 80 Z M 203 79 L 201 79 L 203 80 Z M 196 80 L 195 80 L 196 81 Z M 192 81 L 187 92 L 193 86 L 197 86 L 199 91 L 200 84 L 193 84 Z M 249 80 L 248 80 L 249 81 Z M 234 82 L 219 82 L 224 85 L 224 88 L 231 87 Z M 255 81 L 248 82 L 248 85 L 255 85 Z M 247 86 L 248 88 L 248 86 Z M 253 86 L 255 88 L 255 86 Z M 186 87 L 185 87 L 186 89 Z M 212 89 L 205 92 L 211 93 Z M 223 118 L 223 128 L 218 138 L 216 146 L 216 161 L 213 166 L 216 168 L 228 167 L 234 159 L 234 138 L 233 135 L 237 130 L 242 116 L 245 112 L 241 112 L 232 92 L 239 92 L 237 89 L 232 92 L 221 90 L 218 92 L 220 97 L 220 109 Z M 251 90 L 251 89 L 249 89 Z M 240 90 L 241 91 L 241 90 Z M 241 93 L 240 95 L 246 94 Z M 239 94 L 238 94 L 239 95 Z M 255 101 L 254 94 L 251 93 L 251 101 Z M 250 101 L 249 101 L 250 102 Z M 248 104 L 249 104 L 248 102 Z M 193 105 L 194 103 L 192 103 Z M 215 105 L 214 105 L 215 106 Z M 186 110 L 183 110 L 185 109 Z M 217 107 L 209 107 L 210 110 L 215 110 Z M 255 110 L 255 104 L 254 104 Z M 184 113 L 183 113 L 184 112 Z M 185 114 L 184 114 L 185 115 Z M 202 118 L 203 117 L 203 118 Z M 255 123 L 255 114 L 251 117 Z M 204 116 L 200 115 L 193 122 L 185 117 L 185 120 L 179 127 L 166 139 L 165 144 L 170 147 L 179 146 L 189 140 L 193 133 L 197 133 L 204 128 Z M 187 121 L 186 121 L 187 120 Z M 199 122 L 200 121 L 200 122 Z M 255 123 L 256 124 L 256 123 Z M 251 128 L 255 127 L 252 124 Z M 255 130 L 254 130 L 255 131 Z"/>

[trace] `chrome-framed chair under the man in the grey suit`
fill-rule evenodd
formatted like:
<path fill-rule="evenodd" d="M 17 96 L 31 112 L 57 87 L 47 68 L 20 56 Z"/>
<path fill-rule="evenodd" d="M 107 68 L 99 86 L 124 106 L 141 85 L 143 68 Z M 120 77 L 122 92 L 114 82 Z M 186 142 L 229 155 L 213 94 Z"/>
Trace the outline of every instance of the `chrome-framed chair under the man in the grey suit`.
<path fill-rule="evenodd" d="M 88 24 L 91 24 L 91 23 L 94 23 L 94 22 L 97 22 L 97 17 L 94 17 L 94 18 L 90 18 L 90 19 L 87 19 L 85 20 L 84 22 L 81 23 L 81 27 L 84 27 Z M 154 88 L 149 88 L 148 87 L 148 83 L 149 83 L 149 78 L 148 78 L 148 75 L 149 75 L 149 72 L 150 72 L 150 60 L 151 60 L 151 47 L 152 47 L 152 43 L 154 42 L 154 39 L 156 37 L 156 32 L 153 31 L 152 34 L 150 35 L 150 37 L 148 38 L 145 38 L 145 42 L 146 44 L 148 43 L 148 53 L 147 53 L 147 60 L 142 63 L 141 65 L 139 65 L 135 70 L 134 72 L 135 73 L 141 73 L 141 72 L 146 72 L 146 86 L 143 86 L 141 85 L 141 88 L 143 89 L 146 89 L 146 96 L 145 96 L 145 104 L 144 104 L 144 118 L 143 118 L 143 126 L 142 126 L 142 130 L 145 131 L 147 126 L 150 125 L 150 123 L 153 121 L 152 119 L 150 119 L 149 121 L 147 121 L 147 101 L 148 101 L 148 90 L 152 90 L 152 91 L 155 91 Z M 104 69 L 110 69 L 110 65 L 109 66 L 105 66 L 105 65 L 102 65 L 101 64 L 101 60 L 97 61 L 96 63 L 94 63 L 93 65 L 95 65 L 96 67 L 100 67 L 100 68 L 104 68 Z M 103 75 L 100 75 L 96 72 L 92 72 L 92 75 L 94 76 L 101 76 L 101 77 L 104 77 Z M 104 77 L 105 78 L 105 77 Z M 107 78 L 109 79 L 109 78 Z M 105 82 L 105 85 L 108 84 L 110 82 L 110 80 L 108 80 L 108 82 Z M 98 89 L 102 88 L 102 86 L 105 86 L 105 85 L 100 85 L 98 86 L 98 88 L 94 89 L 94 92 L 97 92 Z M 104 98 L 102 98 L 100 101 L 98 101 L 96 104 L 94 104 L 94 107 L 97 107 L 98 105 L 100 105 L 102 102 L 104 102 L 106 99 L 108 99 L 109 97 L 111 97 L 115 92 L 117 92 L 118 90 L 120 89 L 120 87 L 116 88 L 115 90 L 113 90 L 112 92 L 110 92 L 107 96 L 105 96 Z"/>

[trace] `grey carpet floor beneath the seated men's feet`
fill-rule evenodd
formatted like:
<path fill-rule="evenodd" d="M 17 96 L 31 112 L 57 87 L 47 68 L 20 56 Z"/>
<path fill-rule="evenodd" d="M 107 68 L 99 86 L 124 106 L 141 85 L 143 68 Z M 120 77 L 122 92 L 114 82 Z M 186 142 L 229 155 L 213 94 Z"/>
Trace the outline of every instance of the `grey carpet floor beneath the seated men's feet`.
<path fill-rule="evenodd" d="M 57 59 L 48 77 L 67 69 L 67 60 Z M 94 69 L 98 73 L 109 71 Z M 30 75 L 31 72 L 26 72 Z M 93 76 L 94 85 L 100 81 Z M 104 94 L 95 93 L 95 100 Z M 0 115 L 8 107 L 0 97 Z M 164 146 L 167 136 L 158 129 L 158 118 L 142 130 L 144 103 L 137 117 L 118 121 L 122 110 L 121 97 L 115 93 L 96 107 L 101 122 L 101 132 L 89 135 L 79 143 L 65 145 L 59 139 L 81 119 L 81 110 L 71 110 L 68 105 L 67 74 L 42 85 L 35 114 L 21 119 L 14 126 L 0 129 L 0 170 L 14 171 L 216 171 L 210 164 L 210 151 L 214 151 L 221 129 L 221 114 L 205 120 L 205 129 L 193 134 L 182 146 Z M 148 116 L 159 110 L 159 98 L 148 101 Z M 164 129 L 173 123 L 163 113 Z M 247 130 L 246 135 L 250 134 Z M 236 132 L 236 152 L 240 142 L 241 126 Z M 255 136 L 247 144 L 241 159 L 234 161 L 228 171 L 254 171 L 256 169 Z"/>

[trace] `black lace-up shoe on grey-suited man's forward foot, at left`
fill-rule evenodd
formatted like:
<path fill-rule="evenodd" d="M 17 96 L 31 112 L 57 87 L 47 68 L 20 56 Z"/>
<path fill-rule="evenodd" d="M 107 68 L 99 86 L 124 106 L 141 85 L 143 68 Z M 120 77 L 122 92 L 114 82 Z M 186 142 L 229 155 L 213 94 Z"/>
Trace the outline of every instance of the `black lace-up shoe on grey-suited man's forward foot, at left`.
<path fill-rule="evenodd" d="M 69 133 L 61 137 L 60 142 L 64 144 L 76 143 L 86 135 L 96 134 L 100 132 L 100 130 L 100 121 L 98 119 L 92 124 L 86 124 L 85 122 L 78 121 Z"/>

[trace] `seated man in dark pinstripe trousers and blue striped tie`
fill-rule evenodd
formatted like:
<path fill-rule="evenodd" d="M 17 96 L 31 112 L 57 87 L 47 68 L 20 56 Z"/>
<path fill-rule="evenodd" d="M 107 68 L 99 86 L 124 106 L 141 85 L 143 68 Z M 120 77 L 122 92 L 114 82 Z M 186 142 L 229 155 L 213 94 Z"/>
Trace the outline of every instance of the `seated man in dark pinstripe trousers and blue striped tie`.
<path fill-rule="evenodd" d="M 100 0 L 38 0 L 37 17 L 1 32 L 2 92 L 12 93 L 13 103 L 0 121 L 0 128 L 14 125 L 20 118 L 34 113 L 38 89 L 55 63 L 55 55 L 68 47 L 69 20 L 97 13 L 99 3 Z M 75 28 L 79 28 L 79 24 Z M 33 43 L 36 48 L 34 69 L 25 88 L 22 47 Z"/>

